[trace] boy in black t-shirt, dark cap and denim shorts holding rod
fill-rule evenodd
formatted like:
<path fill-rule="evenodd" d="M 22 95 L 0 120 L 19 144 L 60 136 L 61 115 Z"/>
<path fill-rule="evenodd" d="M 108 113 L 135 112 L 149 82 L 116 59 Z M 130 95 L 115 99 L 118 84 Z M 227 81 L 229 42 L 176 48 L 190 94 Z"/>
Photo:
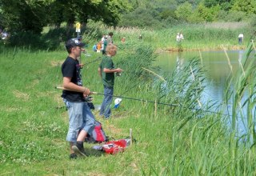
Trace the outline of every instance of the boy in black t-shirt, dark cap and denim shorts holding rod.
<path fill-rule="evenodd" d="M 77 158 L 77 154 L 86 156 L 83 142 L 87 134 L 91 134 L 95 126 L 94 115 L 91 113 L 85 98 L 90 90 L 82 86 L 82 75 L 78 57 L 81 55 L 84 43 L 77 38 L 66 42 L 69 56 L 62 64 L 63 87 L 62 98 L 69 112 L 69 130 L 66 141 L 70 142 L 70 158 Z"/>

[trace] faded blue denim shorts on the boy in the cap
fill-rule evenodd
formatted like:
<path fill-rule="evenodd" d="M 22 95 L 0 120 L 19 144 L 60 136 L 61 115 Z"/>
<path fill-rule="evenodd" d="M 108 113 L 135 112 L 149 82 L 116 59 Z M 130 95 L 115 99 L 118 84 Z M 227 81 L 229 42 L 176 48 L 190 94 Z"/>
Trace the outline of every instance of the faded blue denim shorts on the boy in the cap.
<path fill-rule="evenodd" d="M 88 134 L 91 134 L 94 130 L 95 118 L 87 102 L 69 102 L 65 98 L 63 98 L 63 101 L 69 112 L 70 124 L 66 141 L 76 142 L 80 130 L 85 130 Z"/>

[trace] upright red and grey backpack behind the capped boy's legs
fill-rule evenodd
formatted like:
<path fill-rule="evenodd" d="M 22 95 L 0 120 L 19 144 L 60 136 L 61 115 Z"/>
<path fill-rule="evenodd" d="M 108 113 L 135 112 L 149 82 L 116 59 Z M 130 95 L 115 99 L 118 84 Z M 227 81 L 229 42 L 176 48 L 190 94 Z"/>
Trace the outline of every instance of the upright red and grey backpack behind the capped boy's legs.
<path fill-rule="evenodd" d="M 98 121 L 95 121 L 94 130 L 91 135 L 88 134 L 85 142 L 96 143 L 96 142 L 107 142 L 109 139 L 106 136 L 104 130 L 102 129 L 102 124 Z"/>

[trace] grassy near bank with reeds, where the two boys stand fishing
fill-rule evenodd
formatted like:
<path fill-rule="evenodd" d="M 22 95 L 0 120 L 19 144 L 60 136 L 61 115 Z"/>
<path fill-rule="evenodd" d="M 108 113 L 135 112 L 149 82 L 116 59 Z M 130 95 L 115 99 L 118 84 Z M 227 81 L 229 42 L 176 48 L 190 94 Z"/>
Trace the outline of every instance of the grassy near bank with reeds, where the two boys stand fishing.
<path fill-rule="evenodd" d="M 183 70 L 163 76 L 166 81 L 162 81 L 141 69 L 143 66 L 158 72 L 151 64 L 154 50 L 142 43 L 134 46 L 129 40 L 114 57 L 116 66 L 125 70 L 116 78 L 114 94 L 169 106 L 124 98 L 109 120 L 99 118 L 98 111 L 94 111 L 106 134 L 123 138 L 132 128 L 137 142 L 116 155 L 95 152 L 90 148 L 92 145 L 86 144 L 90 157 L 70 161 L 69 145 L 65 141 L 68 114 L 62 108 L 60 90 L 54 89 L 62 83 L 60 70 L 66 55 L 64 50 L 1 50 L 0 174 L 256 174 L 254 146 L 239 143 L 227 129 L 226 118 L 206 113 L 205 106 L 200 110 L 197 100 L 204 89 L 200 62 L 192 60 Z M 82 55 L 82 62 L 100 56 Z M 97 68 L 98 62 L 93 62 L 82 69 L 83 84 L 102 92 Z M 246 75 L 251 74 L 250 71 Z M 94 105 L 100 102 L 102 97 L 94 95 Z"/>

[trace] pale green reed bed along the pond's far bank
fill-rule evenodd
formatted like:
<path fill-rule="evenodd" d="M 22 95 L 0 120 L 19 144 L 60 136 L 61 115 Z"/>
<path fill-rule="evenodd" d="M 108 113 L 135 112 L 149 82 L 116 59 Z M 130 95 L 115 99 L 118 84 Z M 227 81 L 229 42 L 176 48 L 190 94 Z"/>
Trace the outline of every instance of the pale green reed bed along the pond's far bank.
<path fill-rule="evenodd" d="M 236 27 L 233 27 L 236 26 Z M 145 42 L 158 51 L 178 51 L 176 35 L 180 32 L 184 35 L 182 50 L 222 50 L 222 45 L 229 50 L 245 49 L 250 41 L 250 27 L 246 23 L 206 23 L 198 25 L 182 24 L 162 30 L 139 29 L 136 27 L 107 27 L 98 23 L 90 23 L 90 29 L 101 34 L 114 31 L 114 42 L 121 44 L 122 37 L 126 43 Z M 238 45 L 238 34 L 244 34 L 244 42 Z M 139 35 L 142 40 L 139 40 Z M 98 38 L 99 40 L 100 38 Z"/>

